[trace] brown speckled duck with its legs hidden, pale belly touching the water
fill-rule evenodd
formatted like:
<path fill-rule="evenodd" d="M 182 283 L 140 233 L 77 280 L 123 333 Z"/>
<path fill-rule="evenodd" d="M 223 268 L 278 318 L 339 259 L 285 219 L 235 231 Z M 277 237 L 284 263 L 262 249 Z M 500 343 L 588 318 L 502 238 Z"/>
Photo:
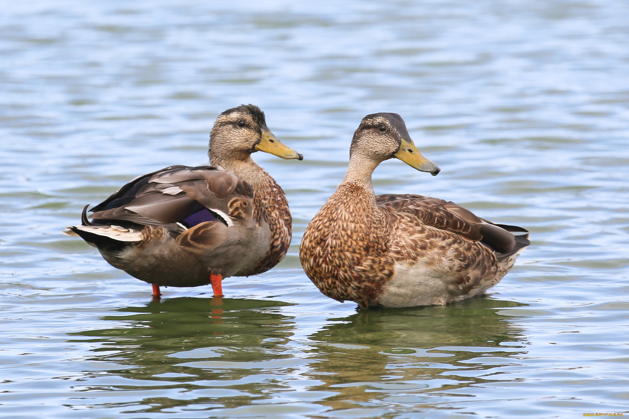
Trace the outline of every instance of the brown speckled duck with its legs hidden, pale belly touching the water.
<path fill-rule="evenodd" d="M 398 114 L 364 117 L 335 193 L 304 232 L 299 258 L 323 294 L 360 307 L 443 305 L 496 285 L 528 246 L 521 227 L 495 224 L 454 202 L 376 195 L 374 169 L 398 158 L 433 176 Z"/>

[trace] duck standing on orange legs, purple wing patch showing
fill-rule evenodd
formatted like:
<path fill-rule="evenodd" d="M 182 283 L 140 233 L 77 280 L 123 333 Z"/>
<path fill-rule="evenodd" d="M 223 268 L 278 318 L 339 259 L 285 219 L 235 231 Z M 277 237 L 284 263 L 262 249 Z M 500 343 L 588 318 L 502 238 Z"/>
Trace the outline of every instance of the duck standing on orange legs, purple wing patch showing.
<path fill-rule="evenodd" d="M 159 286 L 212 284 L 267 271 L 291 242 L 286 195 L 251 158 L 265 151 L 284 159 L 303 156 L 269 131 L 259 107 L 221 113 L 209 139 L 212 166 L 169 166 L 136 177 L 91 209 L 80 226 L 67 227 L 95 246 L 112 266 Z"/>

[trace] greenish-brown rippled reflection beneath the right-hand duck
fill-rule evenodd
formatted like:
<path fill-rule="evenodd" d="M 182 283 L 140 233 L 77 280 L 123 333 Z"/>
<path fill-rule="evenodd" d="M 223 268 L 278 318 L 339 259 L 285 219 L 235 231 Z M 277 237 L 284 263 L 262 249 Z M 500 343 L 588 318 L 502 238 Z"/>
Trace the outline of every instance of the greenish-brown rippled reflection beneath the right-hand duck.
<path fill-rule="evenodd" d="M 333 410 L 404 411 L 408 403 L 431 410 L 440 407 L 435 403 L 449 404 L 448 396 L 470 397 L 458 389 L 501 381 L 493 375 L 517 363 L 508 357 L 524 353 L 521 330 L 498 314 L 522 305 L 472 298 L 445 307 L 360 310 L 330 318 L 335 324 L 310 336 L 320 360 L 312 374 L 325 383 L 313 389 L 338 392 L 324 402 Z"/>

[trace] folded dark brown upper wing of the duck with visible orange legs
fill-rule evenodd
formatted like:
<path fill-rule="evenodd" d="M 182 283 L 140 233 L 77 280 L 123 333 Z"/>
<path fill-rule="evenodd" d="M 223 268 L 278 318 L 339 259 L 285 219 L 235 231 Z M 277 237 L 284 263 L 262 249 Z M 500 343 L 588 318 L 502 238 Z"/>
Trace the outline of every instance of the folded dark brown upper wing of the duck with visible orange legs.
<path fill-rule="evenodd" d="M 211 166 L 170 166 L 127 183 L 96 205 L 92 217 L 165 226 L 181 232 L 184 229 L 175 223 L 203 207 L 223 214 L 234 212 L 230 208 L 234 197 L 250 203 L 253 189 L 237 176 Z M 243 206 L 240 202 L 238 205 Z"/>

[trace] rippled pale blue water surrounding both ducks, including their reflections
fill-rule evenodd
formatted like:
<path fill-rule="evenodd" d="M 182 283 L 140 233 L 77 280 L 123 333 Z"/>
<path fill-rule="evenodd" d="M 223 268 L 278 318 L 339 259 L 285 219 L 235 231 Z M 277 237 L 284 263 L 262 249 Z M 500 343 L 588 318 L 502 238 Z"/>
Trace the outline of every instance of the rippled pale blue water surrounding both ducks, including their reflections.
<path fill-rule="evenodd" d="M 623 1 L 5 2 L 3 418 L 573 418 L 629 411 L 629 5 Z M 206 163 L 253 103 L 304 161 L 289 255 L 211 288 L 150 286 L 60 231 L 121 184 Z M 360 119 L 398 112 L 453 200 L 532 232 L 489 297 L 360 310 L 298 244 Z"/>

